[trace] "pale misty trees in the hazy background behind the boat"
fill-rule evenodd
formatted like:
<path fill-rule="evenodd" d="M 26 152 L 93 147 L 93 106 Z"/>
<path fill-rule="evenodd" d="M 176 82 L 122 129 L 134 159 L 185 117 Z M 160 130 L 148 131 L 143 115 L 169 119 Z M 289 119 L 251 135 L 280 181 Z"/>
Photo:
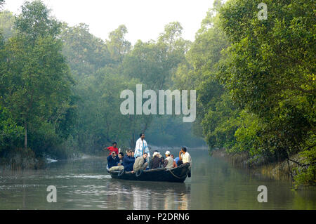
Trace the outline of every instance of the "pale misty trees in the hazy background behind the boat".
<path fill-rule="evenodd" d="M 124 89 L 135 93 L 136 84 L 143 84 L 144 90 L 171 88 L 172 71 L 184 60 L 188 43 L 180 38 L 182 27 L 178 22 L 166 25 L 165 32 L 157 41 L 138 41 L 133 48 L 124 38 L 126 32 L 126 27 L 120 25 L 110 33 L 108 40 L 103 41 L 90 34 L 87 25 L 64 25 L 62 52 L 76 80 L 74 92 L 79 98 L 73 135 L 79 149 L 94 152 L 114 140 L 120 147 L 133 147 L 139 133 L 145 131 L 148 131 L 147 139 L 149 142 L 153 140 L 153 144 L 202 145 L 185 125 L 178 125 L 176 117 L 168 121 L 158 118 L 159 124 L 170 126 L 171 133 L 166 133 L 165 126 L 157 125 L 157 119 L 152 124 L 154 117 L 151 115 L 124 116 L 119 112 L 122 102 L 119 96 Z M 175 133 L 174 129 L 187 132 L 186 138 L 178 138 L 181 134 Z M 164 141 L 164 138 L 173 141 Z"/>

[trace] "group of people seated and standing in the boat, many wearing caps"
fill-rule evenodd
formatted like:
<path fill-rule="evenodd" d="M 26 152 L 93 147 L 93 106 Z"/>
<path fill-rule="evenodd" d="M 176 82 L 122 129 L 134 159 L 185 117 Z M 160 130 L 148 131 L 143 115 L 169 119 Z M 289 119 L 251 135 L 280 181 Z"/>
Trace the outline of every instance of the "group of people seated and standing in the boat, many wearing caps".
<path fill-rule="evenodd" d="M 117 143 L 107 147 L 110 155 L 107 157 L 107 169 L 109 171 L 121 171 L 136 173 L 140 169 L 172 169 L 185 163 L 192 163 L 191 156 L 187 152 L 186 147 L 182 147 L 179 157 L 174 158 L 173 154 L 168 150 L 164 153 L 165 157 L 157 150 L 152 154 L 150 159 L 150 151 L 145 140 L 145 134 L 140 133 L 140 138 L 136 141 L 135 150 L 126 150 L 126 154 L 119 152 Z"/>

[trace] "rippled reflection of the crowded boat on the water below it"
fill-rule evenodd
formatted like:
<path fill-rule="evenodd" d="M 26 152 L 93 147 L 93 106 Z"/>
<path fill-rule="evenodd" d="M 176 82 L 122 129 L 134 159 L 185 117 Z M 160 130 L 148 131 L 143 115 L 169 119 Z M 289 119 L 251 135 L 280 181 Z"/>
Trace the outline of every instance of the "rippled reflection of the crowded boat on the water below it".
<path fill-rule="evenodd" d="M 111 179 L 107 202 L 117 209 L 189 209 L 190 184 Z"/>

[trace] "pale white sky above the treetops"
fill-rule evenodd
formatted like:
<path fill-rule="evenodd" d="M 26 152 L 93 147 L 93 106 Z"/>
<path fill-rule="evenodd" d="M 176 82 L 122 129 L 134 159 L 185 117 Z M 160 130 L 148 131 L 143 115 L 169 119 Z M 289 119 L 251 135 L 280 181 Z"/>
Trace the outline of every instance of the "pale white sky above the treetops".
<path fill-rule="evenodd" d="M 138 39 L 157 39 L 169 22 L 183 26 L 183 38 L 194 41 L 195 33 L 213 6 L 213 0 L 43 0 L 51 15 L 74 26 L 80 22 L 90 27 L 96 37 L 108 39 L 119 25 L 126 25 L 126 39 L 135 44 Z M 20 13 L 24 0 L 6 0 L 4 9 Z"/>

